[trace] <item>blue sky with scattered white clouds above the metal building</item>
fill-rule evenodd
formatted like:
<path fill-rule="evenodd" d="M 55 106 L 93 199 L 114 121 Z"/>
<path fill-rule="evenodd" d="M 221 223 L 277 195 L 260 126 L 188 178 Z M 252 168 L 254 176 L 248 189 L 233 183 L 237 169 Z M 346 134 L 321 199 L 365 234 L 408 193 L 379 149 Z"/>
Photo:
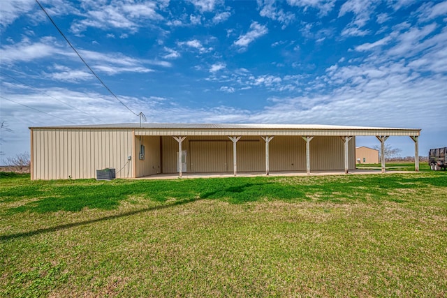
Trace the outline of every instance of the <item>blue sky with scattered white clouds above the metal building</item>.
<path fill-rule="evenodd" d="M 148 122 L 422 128 L 420 155 L 447 146 L 447 2 L 40 2 Z M 3 158 L 29 151 L 29 126 L 139 121 L 36 1 L 0 11 Z"/>

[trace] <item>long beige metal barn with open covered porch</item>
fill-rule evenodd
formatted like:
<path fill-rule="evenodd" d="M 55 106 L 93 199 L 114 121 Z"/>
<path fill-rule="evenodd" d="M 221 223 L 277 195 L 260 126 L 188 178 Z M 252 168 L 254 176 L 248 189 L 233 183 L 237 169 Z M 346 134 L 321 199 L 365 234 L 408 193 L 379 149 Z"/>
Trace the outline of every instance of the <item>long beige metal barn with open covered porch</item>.
<path fill-rule="evenodd" d="M 307 172 L 356 167 L 356 136 L 420 129 L 279 124 L 103 124 L 30 127 L 31 179 L 117 178 L 185 172 Z M 180 152 L 180 154 L 179 154 Z M 382 170 L 384 171 L 384 163 Z M 416 158 L 418 170 L 418 158 Z"/>

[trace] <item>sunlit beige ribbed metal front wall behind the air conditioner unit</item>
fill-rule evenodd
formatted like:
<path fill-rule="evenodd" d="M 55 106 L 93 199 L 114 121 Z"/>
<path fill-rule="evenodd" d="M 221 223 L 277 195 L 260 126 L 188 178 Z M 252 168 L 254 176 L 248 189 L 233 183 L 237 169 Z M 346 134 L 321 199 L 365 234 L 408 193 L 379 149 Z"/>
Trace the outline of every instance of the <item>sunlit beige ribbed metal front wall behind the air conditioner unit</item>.
<path fill-rule="evenodd" d="M 124 129 L 33 128 L 32 179 L 82 179 L 114 167 L 131 177 L 131 131 Z"/>

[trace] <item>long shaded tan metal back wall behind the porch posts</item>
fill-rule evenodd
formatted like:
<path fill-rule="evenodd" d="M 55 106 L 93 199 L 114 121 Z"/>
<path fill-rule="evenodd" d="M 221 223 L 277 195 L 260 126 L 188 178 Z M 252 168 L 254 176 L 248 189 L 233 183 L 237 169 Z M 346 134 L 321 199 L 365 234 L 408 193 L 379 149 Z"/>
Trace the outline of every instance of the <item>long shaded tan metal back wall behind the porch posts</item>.
<path fill-rule="evenodd" d="M 163 173 L 177 171 L 178 142 L 163 139 Z M 277 136 L 270 142 L 270 170 L 306 170 L 306 142 L 302 137 Z M 261 137 L 242 137 L 237 142 L 237 171 L 265 171 L 265 142 Z M 355 168 L 355 137 L 349 142 L 349 168 Z M 226 137 L 186 137 L 186 172 L 232 172 L 233 142 Z M 344 170 L 344 143 L 340 137 L 314 137 L 310 142 L 312 170 Z"/>

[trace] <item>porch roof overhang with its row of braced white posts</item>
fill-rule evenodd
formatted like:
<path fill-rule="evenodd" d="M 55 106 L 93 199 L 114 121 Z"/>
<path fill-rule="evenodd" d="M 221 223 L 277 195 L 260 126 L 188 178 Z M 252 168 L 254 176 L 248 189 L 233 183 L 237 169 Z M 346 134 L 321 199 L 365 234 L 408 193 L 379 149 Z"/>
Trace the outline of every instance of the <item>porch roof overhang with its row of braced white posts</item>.
<path fill-rule="evenodd" d="M 390 136 L 409 136 L 415 146 L 415 170 L 419 170 L 418 137 L 416 128 L 373 128 L 361 126 L 313 126 L 313 125 L 267 125 L 267 124 L 142 124 L 133 127 L 133 136 L 170 136 L 178 142 L 178 152 L 182 152 L 182 142 L 188 137 L 221 136 L 233 142 L 233 176 L 237 175 L 237 142 L 244 136 L 262 137 L 265 141 L 265 173 L 269 169 L 269 144 L 275 136 L 302 137 L 306 142 L 306 174 L 311 172 L 309 144 L 314 137 L 340 137 L 344 142 L 344 173 L 349 173 L 349 142 L 356 136 L 372 136 L 381 142 L 381 156 L 384 156 L 385 142 Z M 178 177 L 182 177 L 182 156 L 178 154 Z M 133 158 L 135 163 L 135 158 Z M 135 169 L 135 165 L 133 167 Z M 381 161 L 381 172 L 385 172 L 385 159 Z M 136 177 L 134 175 L 133 177 Z"/>

